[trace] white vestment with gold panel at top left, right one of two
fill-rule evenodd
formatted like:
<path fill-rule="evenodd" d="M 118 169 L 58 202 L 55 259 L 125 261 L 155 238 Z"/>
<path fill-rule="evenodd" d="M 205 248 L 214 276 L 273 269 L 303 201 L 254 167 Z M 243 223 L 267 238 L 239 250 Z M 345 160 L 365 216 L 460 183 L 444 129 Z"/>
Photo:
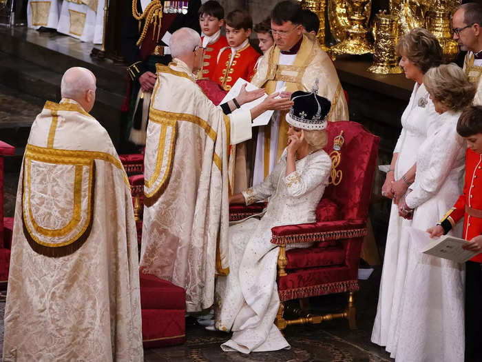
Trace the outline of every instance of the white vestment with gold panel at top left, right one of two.
<path fill-rule="evenodd" d="M 81 41 L 102 44 L 106 0 L 64 0 L 57 31 Z"/>

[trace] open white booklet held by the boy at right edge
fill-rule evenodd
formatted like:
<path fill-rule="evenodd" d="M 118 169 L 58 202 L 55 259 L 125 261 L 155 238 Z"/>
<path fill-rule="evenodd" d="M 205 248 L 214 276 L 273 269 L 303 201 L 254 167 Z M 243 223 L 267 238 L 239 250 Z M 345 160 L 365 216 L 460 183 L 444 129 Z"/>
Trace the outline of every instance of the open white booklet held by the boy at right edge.
<path fill-rule="evenodd" d="M 476 254 L 479 254 L 478 252 L 462 249 L 463 243 L 467 242 L 464 239 L 459 239 L 450 235 L 444 235 L 437 239 L 430 239 L 428 232 L 414 228 L 409 228 L 408 232 L 419 251 L 424 254 L 457 261 L 457 263 L 465 263 L 465 261 L 468 261 L 475 257 Z"/>

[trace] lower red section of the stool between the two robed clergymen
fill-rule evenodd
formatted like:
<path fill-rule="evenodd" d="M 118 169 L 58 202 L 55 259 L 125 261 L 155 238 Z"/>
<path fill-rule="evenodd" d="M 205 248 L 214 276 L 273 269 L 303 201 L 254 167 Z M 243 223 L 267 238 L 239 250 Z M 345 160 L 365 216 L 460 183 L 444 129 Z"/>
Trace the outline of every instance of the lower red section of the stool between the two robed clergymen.
<path fill-rule="evenodd" d="M 145 348 L 185 343 L 185 310 L 143 309 L 141 314 Z"/>

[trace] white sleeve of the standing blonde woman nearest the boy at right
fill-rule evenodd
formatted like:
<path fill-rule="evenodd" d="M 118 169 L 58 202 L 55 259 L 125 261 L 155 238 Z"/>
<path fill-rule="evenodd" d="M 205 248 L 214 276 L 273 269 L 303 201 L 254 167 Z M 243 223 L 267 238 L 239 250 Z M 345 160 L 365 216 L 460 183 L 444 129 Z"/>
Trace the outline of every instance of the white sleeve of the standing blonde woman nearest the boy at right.
<path fill-rule="evenodd" d="M 429 136 L 430 144 L 424 148 L 417 158 L 417 174 L 415 183 L 410 186 L 406 197 L 409 208 L 417 208 L 430 197 L 433 197 L 448 174 L 455 168 L 456 161 L 464 150 L 464 141 L 457 134 L 455 123 L 446 121 L 437 134 Z"/>

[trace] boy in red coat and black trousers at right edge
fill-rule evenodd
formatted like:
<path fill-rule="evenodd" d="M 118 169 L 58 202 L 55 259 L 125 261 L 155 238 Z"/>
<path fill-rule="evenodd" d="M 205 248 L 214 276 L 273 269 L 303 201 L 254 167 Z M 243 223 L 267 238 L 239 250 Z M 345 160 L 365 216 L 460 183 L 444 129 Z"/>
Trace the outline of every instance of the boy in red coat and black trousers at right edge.
<path fill-rule="evenodd" d="M 464 249 L 482 252 L 482 106 L 463 111 L 457 133 L 467 140 L 465 185 L 454 207 L 437 226 L 427 231 L 430 237 L 446 234 L 462 218 Z M 482 361 L 479 339 L 482 335 L 482 254 L 465 263 L 465 361 Z"/>

